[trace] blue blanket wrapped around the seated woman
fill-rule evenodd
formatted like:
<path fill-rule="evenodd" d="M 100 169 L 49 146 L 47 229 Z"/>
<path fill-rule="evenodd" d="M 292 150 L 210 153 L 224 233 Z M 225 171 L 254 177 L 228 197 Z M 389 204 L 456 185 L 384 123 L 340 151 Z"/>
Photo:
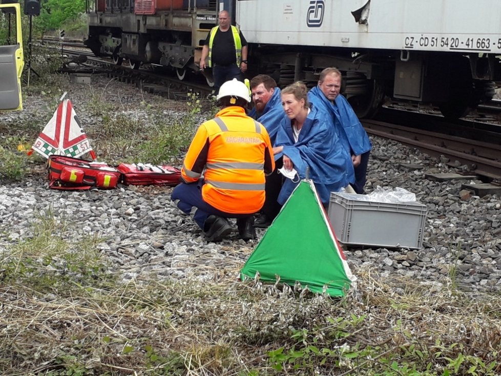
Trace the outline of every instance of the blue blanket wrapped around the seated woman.
<path fill-rule="evenodd" d="M 275 155 L 275 159 L 283 155 L 289 157 L 301 179 L 306 178 L 306 169 L 309 168 L 309 178 L 315 183 L 325 206 L 329 203 L 330 192 L 338 192 L 350 183 L 346 171 L 347 152 L 339 143 L 329 115 L 316 107 L 311 108 L 304 121 L 298 142 L 294 141 L 290 119 L 285 117 L 278 129 L 275 143 L 276 146 L 284 147 L 282 153 Z M 291 179 L 285 179 L 278 196 L 280 204 L 285 203 L 297 184 Z"/>

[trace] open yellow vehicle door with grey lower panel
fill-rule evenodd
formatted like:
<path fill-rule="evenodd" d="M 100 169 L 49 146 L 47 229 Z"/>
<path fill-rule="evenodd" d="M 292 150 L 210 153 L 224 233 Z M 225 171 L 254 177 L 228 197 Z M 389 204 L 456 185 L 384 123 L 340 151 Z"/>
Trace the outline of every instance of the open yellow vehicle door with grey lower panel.
<path fill-rule="evenodd" d="M 0 111 L 22 110 L 21 74 L 25 64 L 19 4 L 0 4 L 0 19 L 7 25 L 0 37 Z"/>

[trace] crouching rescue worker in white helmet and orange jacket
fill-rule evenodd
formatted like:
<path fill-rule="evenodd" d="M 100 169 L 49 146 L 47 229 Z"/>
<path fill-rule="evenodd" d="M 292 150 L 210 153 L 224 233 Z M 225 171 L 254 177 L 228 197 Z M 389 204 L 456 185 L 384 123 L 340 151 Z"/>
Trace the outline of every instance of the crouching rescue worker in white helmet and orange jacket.
<path fill-rule="evenodd" d="M 208 241 L 232 232 L 227 218 L 237 218 L 240 238 L 250 240 L 253 214 L 264 204 L 265 174 L 275 169 L 272 143 L 266 128 L 245 113 L 251 96 L 243 82 L 226 81 L 217 99 L 222 110 L 198 128 L 172 199 L 186 214 L 197 207 L 194 220 Z"/>

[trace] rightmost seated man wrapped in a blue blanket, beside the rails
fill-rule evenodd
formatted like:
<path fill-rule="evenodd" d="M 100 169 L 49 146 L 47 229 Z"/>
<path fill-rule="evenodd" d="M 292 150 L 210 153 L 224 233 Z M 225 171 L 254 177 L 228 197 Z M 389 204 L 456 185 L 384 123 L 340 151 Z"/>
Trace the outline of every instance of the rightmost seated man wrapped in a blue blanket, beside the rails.
<path fill-rule="evenodd" d="M 350 179 L 353 189 L 365 193 L 367 163 L 372 149 L 369 137 L 360 120 L 341 90 L 341 72 L 336 68 L 326 68 L 320 73 L 318 86 L 308 92 L 308 99 L 314 106 L 331 115 L 331 122 L 344 148 L 351 155 L 354 179 Z"/>

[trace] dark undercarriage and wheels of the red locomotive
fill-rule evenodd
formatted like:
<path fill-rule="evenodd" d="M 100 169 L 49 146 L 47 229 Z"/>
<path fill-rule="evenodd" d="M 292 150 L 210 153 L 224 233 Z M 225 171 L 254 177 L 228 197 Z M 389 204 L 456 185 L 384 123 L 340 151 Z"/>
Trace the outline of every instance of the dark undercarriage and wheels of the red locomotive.
<path fill-rule="evenodd" d="M 210 8 L 154 15 L 90 12 L 85 44 L 96 56 L 111 56 L 117 65 L 124 59 L 132 69 L 153 64 L 169 68 L 179 79 L 185 79 L 189 72 L 198 71 L 195 62 L 200 60 L 208 31 L 216 25 L 215 5 Z M 207 84 L 213 85 L 211 76 L 207 77 Z"/>

